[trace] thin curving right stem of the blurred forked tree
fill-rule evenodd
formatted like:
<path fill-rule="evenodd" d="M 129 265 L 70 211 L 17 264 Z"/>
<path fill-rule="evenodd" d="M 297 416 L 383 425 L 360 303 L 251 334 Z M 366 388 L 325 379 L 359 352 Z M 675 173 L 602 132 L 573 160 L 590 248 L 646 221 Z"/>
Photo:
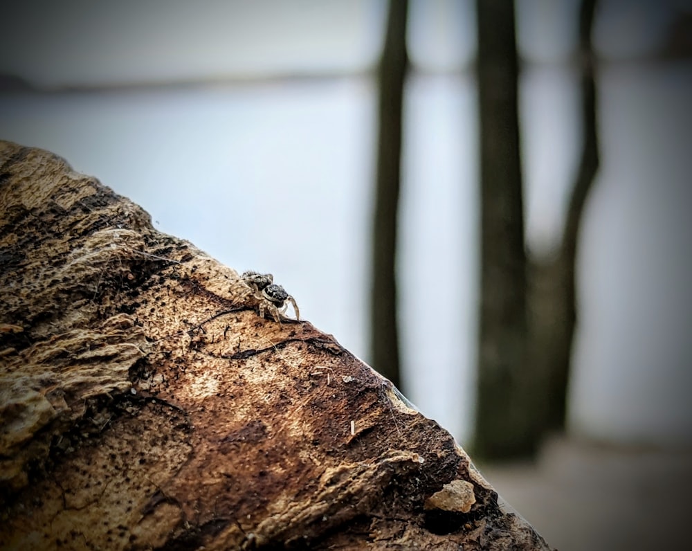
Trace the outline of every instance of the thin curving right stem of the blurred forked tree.
<path fill-rule="evenodd" d="M 582 150 L 556 254 L 532 259 L 532 363 L 543 377 L 547 404 L 542 430 L 564 431 L 572 342 L 576 327 L 576 255 L 586 199 L 599 168 L 597 97 L 592 29 L 597 0 L 583 0 L 579 13 Z"/>

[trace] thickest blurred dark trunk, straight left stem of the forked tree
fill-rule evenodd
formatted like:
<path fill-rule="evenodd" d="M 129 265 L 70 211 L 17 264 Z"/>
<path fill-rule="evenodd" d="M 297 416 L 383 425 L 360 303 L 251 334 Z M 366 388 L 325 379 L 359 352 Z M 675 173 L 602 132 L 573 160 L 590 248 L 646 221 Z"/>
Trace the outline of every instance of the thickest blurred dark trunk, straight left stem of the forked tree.
<path fill-rule="evenodd" d="M 525 407 L 526 270 L 513 2 L 476 1 L 480 106 L 481 301 L 475 453 L 534 451 Z"/>

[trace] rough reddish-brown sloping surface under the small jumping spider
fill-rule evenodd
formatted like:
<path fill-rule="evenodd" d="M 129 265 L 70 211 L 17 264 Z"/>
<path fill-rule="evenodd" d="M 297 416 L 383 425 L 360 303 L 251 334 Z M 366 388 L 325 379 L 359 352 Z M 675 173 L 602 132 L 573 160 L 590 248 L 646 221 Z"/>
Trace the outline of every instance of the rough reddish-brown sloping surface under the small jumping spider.
<path fill-rule="evenodd" d="M 2 549 L 548 549 L 332 336 L 6 142 L 0 289 Z"/>

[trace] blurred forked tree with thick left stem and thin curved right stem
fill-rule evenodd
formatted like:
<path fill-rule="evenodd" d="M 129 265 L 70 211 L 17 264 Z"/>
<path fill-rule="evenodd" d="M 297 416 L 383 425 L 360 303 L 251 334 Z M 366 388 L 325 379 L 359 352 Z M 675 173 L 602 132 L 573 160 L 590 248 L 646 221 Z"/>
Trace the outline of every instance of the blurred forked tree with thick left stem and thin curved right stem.
<path fill-rule="evenodd" d="M 563 239 L 543 258 L 525 253 L 518 127 L 518 55 L 511 2 L 477 2 L 482 284 L 476 453 L 533 454 L 563 431 L 576 327 L 576 253 L 599 165 L 592 28 L 596 0 L 579 13 L 583 145 Z"/>

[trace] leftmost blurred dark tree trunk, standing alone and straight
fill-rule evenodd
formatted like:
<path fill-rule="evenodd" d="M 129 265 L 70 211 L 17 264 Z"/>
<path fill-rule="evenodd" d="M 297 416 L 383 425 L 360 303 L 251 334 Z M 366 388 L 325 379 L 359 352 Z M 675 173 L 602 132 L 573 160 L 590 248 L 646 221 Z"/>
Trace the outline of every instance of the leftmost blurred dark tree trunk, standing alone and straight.
<path fill-rule="evenodd" d="M 396 386 L 399 376 L 397 325 L 397 213 L 401 182 L 403 86 L 408 71 L 408 0 L 392 0 L 379 65 L 379 136 L 372 247 L 372 364 Z"/>

